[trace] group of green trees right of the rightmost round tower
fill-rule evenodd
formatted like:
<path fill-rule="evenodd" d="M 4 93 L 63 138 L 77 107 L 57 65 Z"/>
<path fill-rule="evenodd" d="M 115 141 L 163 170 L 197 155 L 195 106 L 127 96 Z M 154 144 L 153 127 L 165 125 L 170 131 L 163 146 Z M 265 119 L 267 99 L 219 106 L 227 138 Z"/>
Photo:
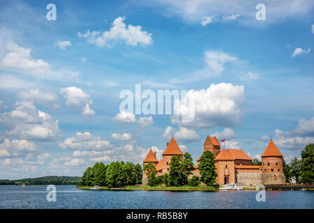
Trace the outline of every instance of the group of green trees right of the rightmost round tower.
<path fill-rule="evenodd" d="M 287 183 L 292 178 L 295 178 L 297 183 L 314 183 L 314 144 L 308 144 L 301 151 L 301 160 L 294 157 L 289 164 L 284 161 L 283 171 Z"/>

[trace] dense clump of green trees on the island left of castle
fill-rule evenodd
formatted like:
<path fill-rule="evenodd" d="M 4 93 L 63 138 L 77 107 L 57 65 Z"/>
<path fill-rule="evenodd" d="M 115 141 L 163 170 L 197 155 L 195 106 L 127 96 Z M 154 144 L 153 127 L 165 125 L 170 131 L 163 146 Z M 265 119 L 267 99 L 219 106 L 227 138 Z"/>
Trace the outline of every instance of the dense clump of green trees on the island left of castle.
<path fill-rule="evenodd" d="M 125 187 L 142 183 L 142 166 L 132 162 L 96 162 L 88 167 L 78 186 Z"/>

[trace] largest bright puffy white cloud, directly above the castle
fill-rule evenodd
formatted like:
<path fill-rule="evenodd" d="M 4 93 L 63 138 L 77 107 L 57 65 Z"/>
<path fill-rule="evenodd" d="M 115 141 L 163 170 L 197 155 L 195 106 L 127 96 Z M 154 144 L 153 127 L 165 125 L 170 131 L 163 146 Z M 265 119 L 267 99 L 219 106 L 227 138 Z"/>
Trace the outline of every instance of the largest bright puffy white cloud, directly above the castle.
<path fill-rule="evenodd" d="M 186 97 L 195 98 L 195 106 L 186 106 L 179 101 L 174 102 L 178 114 L 171 117 L 172 123 L 193 128 L 211 128 L 215 125 L 230 128 L 241 123 L 244 86 L 227 83 L 211 84 L 208 89 L 188 91 Z M 194 121 L 182 122 L 181 118 L 190 109 L 195 110 Z"/>

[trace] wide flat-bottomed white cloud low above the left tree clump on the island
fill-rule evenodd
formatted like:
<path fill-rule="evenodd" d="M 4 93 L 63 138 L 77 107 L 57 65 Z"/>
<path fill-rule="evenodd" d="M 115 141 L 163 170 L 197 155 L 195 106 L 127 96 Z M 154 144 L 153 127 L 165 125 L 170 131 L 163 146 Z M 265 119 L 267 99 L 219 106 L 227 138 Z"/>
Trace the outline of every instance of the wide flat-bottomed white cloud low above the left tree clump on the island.
<path fill-rule="evenodd" d="M 110 141 L 93 137 L 89 132 L 77 132 L 75 137 L 69 137 L 59 144 L 62 149 L 77 149 L 91 151 L 105 151 L 112 148 Z"/>

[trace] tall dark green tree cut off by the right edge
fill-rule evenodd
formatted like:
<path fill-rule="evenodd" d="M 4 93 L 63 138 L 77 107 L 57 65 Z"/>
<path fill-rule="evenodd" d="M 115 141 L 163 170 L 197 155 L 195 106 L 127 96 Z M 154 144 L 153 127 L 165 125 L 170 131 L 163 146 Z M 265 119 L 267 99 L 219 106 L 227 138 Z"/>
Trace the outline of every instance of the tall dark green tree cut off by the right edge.
<path fill-rule="evenodd" d="M 304 183 L 314 182 L 314 144 L 308 144 L 301 151 L 301 178 Z"/>

